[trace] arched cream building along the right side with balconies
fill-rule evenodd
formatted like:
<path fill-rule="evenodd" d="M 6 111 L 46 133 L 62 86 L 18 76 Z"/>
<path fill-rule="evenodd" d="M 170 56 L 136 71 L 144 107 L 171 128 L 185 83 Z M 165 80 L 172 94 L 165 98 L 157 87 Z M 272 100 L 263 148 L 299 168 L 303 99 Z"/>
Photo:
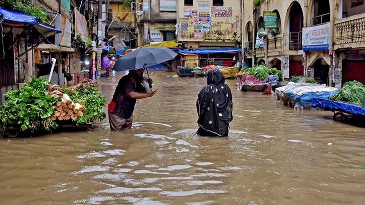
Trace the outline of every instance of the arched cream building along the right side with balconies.
<path fill-rule="evenodd" d="M 284 77 L 306 75 L 336 87 L 351 79 L 365 83 L 363 0 L 245 0 L 243 11 L 248 66 L 265 62 Z M 265 22 L 270 13 L 277 16 L 275 30 Z M 260 28 L 266 33 L 261 30 L 258 45 Z"/>

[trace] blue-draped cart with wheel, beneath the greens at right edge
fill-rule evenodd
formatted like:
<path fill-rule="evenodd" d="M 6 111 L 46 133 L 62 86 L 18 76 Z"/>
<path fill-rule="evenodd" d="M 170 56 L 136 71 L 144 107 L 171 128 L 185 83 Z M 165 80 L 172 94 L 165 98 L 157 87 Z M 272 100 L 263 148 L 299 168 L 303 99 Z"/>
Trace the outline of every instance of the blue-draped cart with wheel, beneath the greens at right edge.
<path fill-rule="evenodd" d="M 365 107 L 361 105 L 350 104 L 342 101 L 334 101 L 326 98 L 314 97 L 312 100 L 313 107 L 322 107 L 324 110 L 333 111 L 333 120 L 347 120 L 344 113 L 365 116 Z"/>

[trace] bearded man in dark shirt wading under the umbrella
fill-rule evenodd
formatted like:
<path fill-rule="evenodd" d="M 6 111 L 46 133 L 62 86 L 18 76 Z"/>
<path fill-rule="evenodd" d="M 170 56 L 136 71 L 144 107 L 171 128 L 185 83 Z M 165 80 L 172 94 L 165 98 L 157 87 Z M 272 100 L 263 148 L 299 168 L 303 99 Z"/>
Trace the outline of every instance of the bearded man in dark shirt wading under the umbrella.
<path fill-rule="evenodd" d="M 158 89 L 151 93 L 146 93 L 141 84 L 143 71 L 141 69 L 129 70 L 129 73 L 120 78 L 115 89 L 113 99 L 108 104 L 109 124 L 111 130 L 121 131 L 132 126 L 133 110 L 136 99 L 153 96 Z M 149 84 L 152 79 L 149 78 Z"/>

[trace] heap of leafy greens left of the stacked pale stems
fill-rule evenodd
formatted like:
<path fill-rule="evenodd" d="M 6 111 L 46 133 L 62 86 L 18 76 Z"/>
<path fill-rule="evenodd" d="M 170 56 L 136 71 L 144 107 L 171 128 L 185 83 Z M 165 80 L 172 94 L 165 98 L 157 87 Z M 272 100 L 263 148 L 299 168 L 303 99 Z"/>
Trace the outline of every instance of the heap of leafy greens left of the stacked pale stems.
<path fill-rule="evenodd" d="M 11 125 L 19 126 L 22 130 L 57 127 L 51 120 L 51 115 L 54 105 L 61 98 L 54 98 L 48 94 L 48 83 L 43 77 L 32 77 L 32 81 L 24 83 L 23 88 L 5 93 L 6 102 L 0 110 L 1 129 Z"/>

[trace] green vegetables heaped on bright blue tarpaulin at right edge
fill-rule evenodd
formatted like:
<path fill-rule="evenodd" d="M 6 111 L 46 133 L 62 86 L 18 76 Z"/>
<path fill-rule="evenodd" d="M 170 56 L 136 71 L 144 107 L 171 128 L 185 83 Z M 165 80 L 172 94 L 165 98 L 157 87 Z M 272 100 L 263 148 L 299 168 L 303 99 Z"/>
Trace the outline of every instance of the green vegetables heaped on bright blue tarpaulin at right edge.
<path fill-rule="evenodd" d="M 361 104 L 365 92 L 365 85 L 356 80 L 345 82 L 343 87 L 336 94 L 328 97 L 335 101 L 348 101 Z"/>

